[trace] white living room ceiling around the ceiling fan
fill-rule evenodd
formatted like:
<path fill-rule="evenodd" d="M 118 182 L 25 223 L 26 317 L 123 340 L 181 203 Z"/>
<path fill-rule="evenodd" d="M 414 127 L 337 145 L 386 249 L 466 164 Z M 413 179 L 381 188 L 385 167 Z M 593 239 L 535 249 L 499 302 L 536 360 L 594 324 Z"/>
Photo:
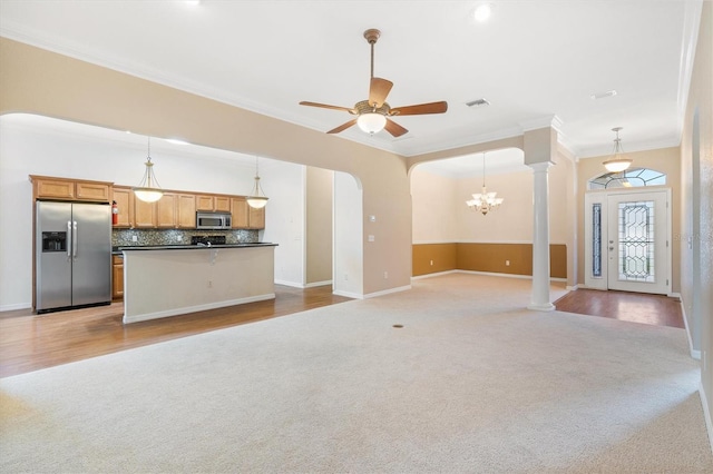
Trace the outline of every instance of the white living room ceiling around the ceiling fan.
<path fill-rule="evenodd" d="M 448 112 L 394 118 L 400 138 L 335 139 L 413 156 L 554 124 L 580 158 L 609 154 L 613 127 L 625 151 L 680 144 L 700 1 L 490 0 L 486 22 L 478 3 L 0 0 L 0 34 L 326 131 L 352 117 L 299 102 L 367 99 L 363 31 L 378 28 L 389 103 Z M 467 106 L 480 98 L 490 105 Z"/>

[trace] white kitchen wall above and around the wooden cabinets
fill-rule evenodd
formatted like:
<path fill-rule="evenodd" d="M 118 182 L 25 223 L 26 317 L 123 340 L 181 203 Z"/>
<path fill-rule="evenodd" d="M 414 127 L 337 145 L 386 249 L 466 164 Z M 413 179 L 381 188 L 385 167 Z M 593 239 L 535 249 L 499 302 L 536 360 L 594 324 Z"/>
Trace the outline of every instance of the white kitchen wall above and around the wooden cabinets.
<path fill-rule="evenodd" d="M 137 185 L 144 172 L 145 138 L 134 140 L 135 144 L 99 139 L 90 134 L 69 134 L 61 122 L 46 120 L 57 127 L 30 128 L 20 115 L 0 117 L 0 310 L 27 308 L 32 302 L 32 187 L 28 175 L 130 186 Z M 159 144 L 160 140 L 152 141 L 154 169 L 163 188 L 250 194 L 254 160 L 245 164 L 196 156 L 179 146 L 172 148 Z M 303 200 L 295 198 L 303 192 L 303 166 L 262 158 L 260 164 L 263 189 L 271 198 L 266 208 L 268 230 L 263 239 L 280 244 L 275 265 L 282 271 L 281 278 L 303 275 L 303 251 L 291 245 L 303 231 Z M 277 180 L 284 182 L 277 185 Z M 291 226 L 281 225 L 279 216 L 285 207 L 293 220 Z"/>

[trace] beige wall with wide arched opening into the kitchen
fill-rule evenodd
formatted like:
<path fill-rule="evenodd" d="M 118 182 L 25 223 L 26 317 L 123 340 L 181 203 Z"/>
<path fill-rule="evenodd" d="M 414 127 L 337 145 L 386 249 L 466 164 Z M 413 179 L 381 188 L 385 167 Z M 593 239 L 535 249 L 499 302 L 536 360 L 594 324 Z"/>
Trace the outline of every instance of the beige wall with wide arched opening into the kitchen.
<path fill-rule="evenodd" d="M 355 176 L 363 215 L 380 216 L 381 238 L 363 248 L 363 293 L 410 285 L 411 200 L 403 158 L 6 38 L 0 38 L 0 113 L 182 137 Z"/>

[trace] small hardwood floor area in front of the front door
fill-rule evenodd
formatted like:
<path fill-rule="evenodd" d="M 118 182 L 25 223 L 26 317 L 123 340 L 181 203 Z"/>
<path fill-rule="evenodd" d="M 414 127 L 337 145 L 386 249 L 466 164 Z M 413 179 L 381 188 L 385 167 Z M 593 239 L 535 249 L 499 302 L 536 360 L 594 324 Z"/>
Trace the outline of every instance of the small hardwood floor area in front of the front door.
<path fill-rule="evenodd" d="M 556 300 L 555 308 L 633 323 L 685 327 L 681 302 L 664 295 L 577 289 Z"/>

